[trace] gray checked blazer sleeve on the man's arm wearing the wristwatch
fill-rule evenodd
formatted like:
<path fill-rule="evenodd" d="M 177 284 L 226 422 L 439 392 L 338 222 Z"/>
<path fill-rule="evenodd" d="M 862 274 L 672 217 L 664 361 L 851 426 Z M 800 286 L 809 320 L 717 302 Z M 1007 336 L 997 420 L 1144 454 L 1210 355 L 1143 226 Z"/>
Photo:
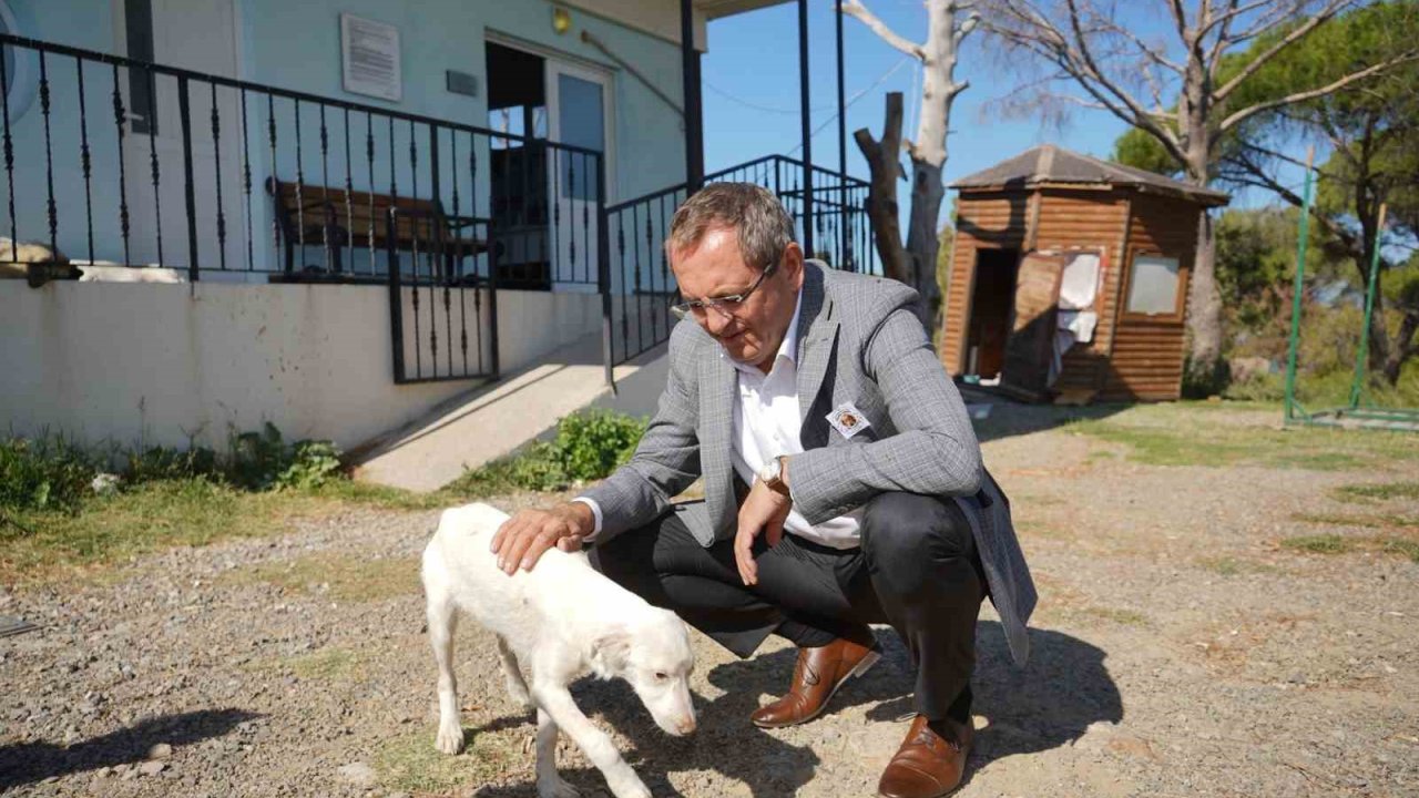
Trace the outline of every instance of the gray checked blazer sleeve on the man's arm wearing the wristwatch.
<path fill-rule="evenodd" d="M 823 446 L 789 460 L 793 505 L 809 524 L 861 507 L 878 493 L 971 496 L 981 490 L 981 444 L 956 386 L 911 310 L 894 293 L 861 351 L 863 373 L 887 403 L 897 434 Z"/>

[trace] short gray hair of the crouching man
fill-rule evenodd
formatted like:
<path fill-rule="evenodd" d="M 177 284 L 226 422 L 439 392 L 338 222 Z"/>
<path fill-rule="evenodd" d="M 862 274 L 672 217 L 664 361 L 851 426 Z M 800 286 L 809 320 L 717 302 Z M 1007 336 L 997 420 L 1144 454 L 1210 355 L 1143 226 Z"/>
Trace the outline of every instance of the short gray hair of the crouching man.
<path fill-rule="evenodd" d="M 715 229 L 732 229 L 744 261 L 762 270 L 776 266 L 793 241 L 793 217 L 772 192 L 753 183 L 711 183 L 675 210 L 666 254 L 698 247 Z"/>

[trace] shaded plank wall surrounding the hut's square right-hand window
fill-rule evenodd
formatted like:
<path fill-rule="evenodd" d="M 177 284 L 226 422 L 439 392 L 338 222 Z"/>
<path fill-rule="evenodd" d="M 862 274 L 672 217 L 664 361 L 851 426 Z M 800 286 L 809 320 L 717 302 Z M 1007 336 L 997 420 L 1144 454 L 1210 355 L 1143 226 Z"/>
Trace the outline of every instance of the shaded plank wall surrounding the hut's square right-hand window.
<path fill-rule="evenodd" d="M 1161 253 L 1178 258 L 1178 291 L 1188 295 L 1198 241 L 1199 207 L 1191 202 L 1135 195 L 1128 226 L 1130 263 L 1135 253 Z M 1125 270 L 1120 270 L 1125 274 Z M 1120 285 L 1118 301 L 1125 301 Z M 1122 308 L 1121 308 L 1122 310 Z M 1121 314 L 1110 355 L 1103 400 L 1176 399 L 1182 393 L 1183 317 L 1130 317 Z"/>

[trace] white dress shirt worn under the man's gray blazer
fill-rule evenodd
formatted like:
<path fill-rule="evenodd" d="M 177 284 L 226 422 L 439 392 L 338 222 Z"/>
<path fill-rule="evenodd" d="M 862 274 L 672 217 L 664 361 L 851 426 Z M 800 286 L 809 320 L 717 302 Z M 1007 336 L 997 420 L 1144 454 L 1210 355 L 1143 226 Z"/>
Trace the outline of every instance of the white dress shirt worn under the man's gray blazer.
<path fill-rule="evenodd" d="M 803 311 L 803 291 L 799 290 L 797 302 L 793 308 L 793 321 L 789 322 L 788 335 L 779 345 L 773 356 L 773 366 L 769 373 L 763 373 L 758 366 L 734 362 L 738 381 L 738 402 L 734 405 L 734 452 L 731 463 L 734 473 L 752 486 L 759 469 L 771 457 L 780 454 L 799 454 L 803 443 L 799 439 L 802 422 L 799 420 L 797 398 L 797 325 L 799 314 Z M 721 358 L 729 355 L 719 349 Z M 789 464 L 789 493 L 793 488 L 793 466 Z M 595 500 L 578 497 L 592 508 L 596 518 L 596 532 L 602 531 L 602 508 Z M 797 510 L 789 513 L 783 521 L 783 530 L 800 538 L 833 547 L 856 548 L 858 545 L 858 527 L 861 510 L 853 510 L 846 515 L 830 518 L 822 524 L 809 524 Z M 595 538 L 595 532 L 592 535 Z"/>

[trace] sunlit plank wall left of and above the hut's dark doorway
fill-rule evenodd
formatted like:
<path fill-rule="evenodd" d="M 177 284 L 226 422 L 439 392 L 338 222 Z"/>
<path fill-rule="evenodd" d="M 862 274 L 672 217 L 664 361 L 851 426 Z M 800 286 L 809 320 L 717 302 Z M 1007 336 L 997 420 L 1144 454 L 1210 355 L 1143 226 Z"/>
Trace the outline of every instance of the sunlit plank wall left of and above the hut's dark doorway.
<path fill-rule="evenodd" d="M 1033 192 L 979 192 L 956 199 L 956 237 L 951 250 L 951 283 L 941 335 L 941 362 L 952 376 L 965 373 L 966 322 L 975 287 L 975 251 L 1025 248 Z"/>

